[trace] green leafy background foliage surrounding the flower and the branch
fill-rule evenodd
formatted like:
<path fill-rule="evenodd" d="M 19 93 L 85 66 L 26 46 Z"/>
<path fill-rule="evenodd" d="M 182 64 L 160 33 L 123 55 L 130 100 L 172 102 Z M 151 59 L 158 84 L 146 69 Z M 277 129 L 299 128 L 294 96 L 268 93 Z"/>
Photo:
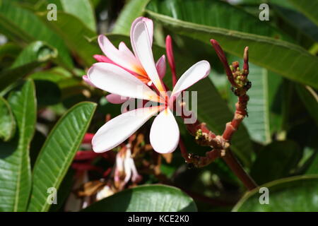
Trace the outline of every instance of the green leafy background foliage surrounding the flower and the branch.
<path fill-rule="evenodd" d="M 49 21 L 51 3 L 58 12 Z M 268 21 L 259 20 L 262 3 L 269 4 Z M 172 36 L 177 75 L 201 59 L 211 63 L 208 79 L 192 89 L 199 119 L 216 133 L 236 100 L 209 41 L 218 40 L 230 61 L 242 61 L 249 46 L 249 117 L 232 148 L 269 187 L 271 204 L 259 204 L 258 190 L 245 194 L 222 160 L 188 169 L 176 150 L 172 162 L 160 163 L 160 177 L 144 173 L 139 186 L 86 211 L 317 211 L 318 1 L 310 0 L 0 0 L 0 210 L 64 210 L 85 133 L 106 114 L 119 114 L 106 93 L 81 78 L 101 54 L 96 37 L 129 44 L 131 22 L 142 15 L 155 22 L 155 59 L 165 54 L 165 35 Z M 171 85 L 170 72 L 165 79 Z M 180 126 L 188 151 L 203 155 L 207 149 Z M 51 208 L 49 187 L 59 194 Z"/>

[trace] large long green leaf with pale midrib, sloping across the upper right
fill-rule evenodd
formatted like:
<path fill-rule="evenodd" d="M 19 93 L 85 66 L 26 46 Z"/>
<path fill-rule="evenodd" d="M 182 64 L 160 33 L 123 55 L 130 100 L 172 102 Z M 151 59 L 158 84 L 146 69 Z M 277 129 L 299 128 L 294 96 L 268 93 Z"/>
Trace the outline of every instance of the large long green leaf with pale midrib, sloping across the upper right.
<path fill-rule="evenodd" d="M 235 56 L 241 57 L 243 49 L 249 46 L 252 63 L 318 88 L 317 57 L 302 47 L 279 40 L 286 38 L 257 18 L 241 15 L 242 11 L 233 6 L 218 1 L 164 0 L 151 1 L 146 12 L 179 35 L 207 44 L 211 38 L 218 40 L 226 52 Z"/>

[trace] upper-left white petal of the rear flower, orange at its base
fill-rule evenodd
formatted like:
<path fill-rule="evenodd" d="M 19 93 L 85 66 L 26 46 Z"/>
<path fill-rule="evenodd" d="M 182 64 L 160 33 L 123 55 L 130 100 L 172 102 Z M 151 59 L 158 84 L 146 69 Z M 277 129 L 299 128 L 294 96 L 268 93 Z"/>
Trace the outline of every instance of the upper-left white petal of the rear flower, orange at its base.
<path fill-rule="evenodd" d="M 100 44 L 100 49 L 102 49 L 102 52 L 114 61 L 114 63 L 124 67 L 125 69 L 129 69 L 130 71 L 142 71 L 141 64 L 139 63 L 139 60 L 134 57 L 134 54 L 129 54 L 124 47 L 123 44 L 120 45 L 120 50 L 114 47 L 112 42 L 108 40 L 105 35 L 98 36 L 98 43 Z M 125 49 L 125 50 L 124 50 Z"/>

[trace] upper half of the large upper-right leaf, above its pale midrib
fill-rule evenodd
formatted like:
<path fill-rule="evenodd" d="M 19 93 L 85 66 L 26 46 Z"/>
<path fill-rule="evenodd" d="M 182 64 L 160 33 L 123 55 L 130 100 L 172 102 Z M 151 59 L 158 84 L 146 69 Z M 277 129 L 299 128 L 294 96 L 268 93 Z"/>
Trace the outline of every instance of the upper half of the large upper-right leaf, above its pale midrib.
<path fill-rule="evenodd" d="M 148 13 L 160 13 L 162 16 L 179 20 L 180 25 L 182 21 L 188 21 L 196 23 L 196 25 L 208 25 L 212 28 L 225 28 L 290 40 L 288 36 L 269 23 L 261 22 L 259 18 L 242 11 L 240 8 L 218 0 L 155 0 L 148 4 L 147 10 Z M 225 15 L 227 16 L 225 17 Z"/>

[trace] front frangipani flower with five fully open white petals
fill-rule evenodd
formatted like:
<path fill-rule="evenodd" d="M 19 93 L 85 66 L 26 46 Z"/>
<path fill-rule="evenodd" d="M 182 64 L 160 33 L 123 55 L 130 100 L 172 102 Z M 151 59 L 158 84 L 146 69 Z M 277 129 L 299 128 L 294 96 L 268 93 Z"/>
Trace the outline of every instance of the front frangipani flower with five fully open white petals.
<path fill-rule="evenodd" d="M 151 90 L 139 78 L 132 76 L 131 73 L 117 65 L 96 63 L 88 70 L 90 82 L 102 90 L 124 97 L 150 100 L 159 104 L 154 107 L 134 109 L 108 121 L 95 133 L 92 140 L 95 152 L 102 153 L 116 147 L 158 112 L 160 113 L 155 117 L 150 132 L 153 149 L 158 153 L 171 153 L 177 148 L 179 128 L 171 112 L 173 102 L 183 90 L 208 76 L 210 64 L 208 61 L 199 61 L 194 64 L 179 78 L 169 96 L 158 75 L 151 51 L 151 43 L 147 23 L 139 20 L 131 30 L 131 44 L 135 56 L 139 59 L 142 68 L 160 95 Z"/>

